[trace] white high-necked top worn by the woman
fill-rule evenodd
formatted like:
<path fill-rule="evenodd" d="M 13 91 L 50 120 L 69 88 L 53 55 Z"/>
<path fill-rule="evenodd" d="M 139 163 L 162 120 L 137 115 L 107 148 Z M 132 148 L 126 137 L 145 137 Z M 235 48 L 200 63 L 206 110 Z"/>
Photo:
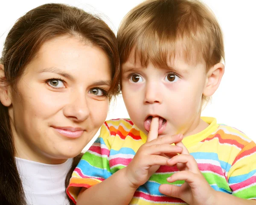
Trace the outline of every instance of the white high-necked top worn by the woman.
<path fill-rule="evenodd" d="M 65 179 L 73 159 L 59 165 L 15 159 L 28 205 L 69 205 Z"/>

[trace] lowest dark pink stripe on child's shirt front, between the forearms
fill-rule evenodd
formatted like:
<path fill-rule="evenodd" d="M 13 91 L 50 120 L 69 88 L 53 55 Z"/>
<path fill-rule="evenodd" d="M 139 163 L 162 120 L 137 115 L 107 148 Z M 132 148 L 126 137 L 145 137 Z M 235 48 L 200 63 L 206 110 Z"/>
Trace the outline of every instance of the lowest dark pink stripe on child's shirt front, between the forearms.
<path fill-rule="evenodd" d="M 174 197 L 169 197 L 169 196 L 151 196 L 150 194 L 145 194 L 140 191 L 136 191 L 134 193 L 134 197 L 140 197 L 152 202 L 172 202 L 172 203 L 184 203 L 183 200 L 174 198 Z"/>

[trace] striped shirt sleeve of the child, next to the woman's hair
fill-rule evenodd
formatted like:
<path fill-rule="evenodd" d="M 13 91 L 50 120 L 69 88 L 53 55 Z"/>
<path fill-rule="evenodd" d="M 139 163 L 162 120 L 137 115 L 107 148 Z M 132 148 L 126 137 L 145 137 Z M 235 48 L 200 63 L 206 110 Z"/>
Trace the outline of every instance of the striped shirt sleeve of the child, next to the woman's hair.
<path fill-rule="evenodd" d="M 90 188 L 112 175 L 109 166 L 111 150 L 110 131 L 105 122 L 101 127 L 100 135 L 89 150 L 84 153 L 79 164 L 73 171 L 67 195 L 76 204 L 81 188 Z"/>

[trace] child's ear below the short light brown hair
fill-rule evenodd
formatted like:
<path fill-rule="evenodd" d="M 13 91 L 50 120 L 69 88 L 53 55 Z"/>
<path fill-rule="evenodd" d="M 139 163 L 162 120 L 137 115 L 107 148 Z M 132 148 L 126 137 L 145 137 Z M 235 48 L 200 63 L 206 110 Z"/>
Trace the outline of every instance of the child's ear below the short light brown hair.
<path fill-rule="evenodd" d="M 223 63 L 217 63 L 209 69 L 203 92 L 204 96 L 210 97 L 215 93 L 221 83 L 221 78 L 224 74 L 224 67 Z"/>

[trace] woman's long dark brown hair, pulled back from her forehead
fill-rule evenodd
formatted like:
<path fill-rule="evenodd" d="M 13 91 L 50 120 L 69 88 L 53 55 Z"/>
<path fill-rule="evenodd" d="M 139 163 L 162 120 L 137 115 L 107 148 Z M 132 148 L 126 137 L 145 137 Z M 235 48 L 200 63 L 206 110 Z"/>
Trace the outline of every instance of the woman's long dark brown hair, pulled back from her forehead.
<path fill-rule="evenodd" d="M 82 9 L 64 4 L 50 3 L 38 6 L 20 17 L 9 34 L 3 48 L 0 63 L 4 65 L 5 79 L 1 86 L 17 85 L 24 68 L 35 57 L 41 45 L 54 37 L 77 35 L 90 45 L 102 48 L 109 57 L 112 85 L 109 97 L 119 93 L 119 53 L 116 37 L 99 17 Z M 15 147 L 8 108 L 0 103 L 0 202 L 5 205 L 26 204 L 22 183 L 15 163 Z M 79 155 L 73 167 L 81 158 Z M 71 168 L 71 169 L 72 169 Z M 69 171 L 66 179 L 70 179 Z M 70 201 L 71 204 L 73 202 Z"/>

